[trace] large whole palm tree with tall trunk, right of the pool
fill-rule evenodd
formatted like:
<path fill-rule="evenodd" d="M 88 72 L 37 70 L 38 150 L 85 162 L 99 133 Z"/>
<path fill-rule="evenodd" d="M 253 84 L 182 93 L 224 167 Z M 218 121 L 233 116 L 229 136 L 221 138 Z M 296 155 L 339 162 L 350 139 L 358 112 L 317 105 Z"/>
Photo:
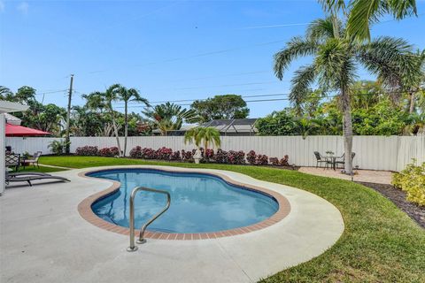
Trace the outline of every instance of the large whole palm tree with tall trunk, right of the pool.
<path fill-rule="evenodd" d="M 321 89 L 335 92 L 343 112 L 345 172 L 352 173 L 352 85 L 357 65 L 377 75 L 384 86 L 402 88 L 402 78 L 417 74 L 417 57 L 402 39 L 380 37 L 358 42 L 347 36 L 343 22 L 335 15 L 314 20 L 305 37 L 294 37 L 274 55 L 274 73 L 282 80 L 290 63 L 301 56 L 313 56 L 313 64 L 301 66 L 291 80 L 290 100 L 302 103 L 308 89 L 318 82 Z M 403 79 L 405 80 L 405 79 Z"/>

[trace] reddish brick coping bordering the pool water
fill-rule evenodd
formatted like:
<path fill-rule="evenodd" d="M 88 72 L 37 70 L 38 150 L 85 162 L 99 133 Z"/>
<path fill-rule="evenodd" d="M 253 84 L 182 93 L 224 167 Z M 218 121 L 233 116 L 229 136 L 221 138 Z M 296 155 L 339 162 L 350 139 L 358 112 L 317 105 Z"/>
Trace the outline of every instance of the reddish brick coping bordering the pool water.
<path fill-rule="evenodd" d="M 270 218 L 267 218 L 263 221 L 260 221 L 259 223 L 253 224 L 251 226 L 243 226 L 235 229 L 229 229 L 229 230 L 222 230 L 217 232 L 210 232 L 210 233 L 161 233 L 161 232 L 153 232 L 147 229 L 144 233 L 145 238 L 150 239 L 159 239 L 159 240 L 206 240 L 206 239 L 217 239 L 221 237 L 228 237 L 228 236 L 235 236 L 243 233 L 250 233 L 253 231 L 257 231 L 260 229 L 264 229 L 268 226 L 272 226 L 275 223 L 281 221 L 283 218 L 288 216 L 290 214 L 290 202 L 287 200 L 286 197 L 283 195 L 264 188 L 259 187 L 251 184 L 241 183 L 236 180 L 231 180 L 227 175 L 222 174 L 220 172 L 203 172 L 203 171 L 197 171 L 197 170 L 184 170 L 184 171 L 176 171 L 175 169 L 167 169 L 167 168 L 156 168 L 156 167 L 120 167 L 120 168 L 104 168 L 99 170 L 90 170 L 87 172 L 80 172 L 78 174 L 81 178 L 89 178 L 89 179 L 97 179 L 95 177 L 89 177 L 87 174 L 92 172 L 102 172 L 102 171 L 108 171 L 108 170 L 125 170 L 125 169 L 148 169 L 148 170 L 158 170 L 163 172 L 189 172 L 189 173 L 201 173 L 201 174 L 209 174 L 216 177 L 219 177 L 220 179 L 232 184 L 236 185 L 237 187 L 240 187 L 241 189 L 248 189 L 251 191 L 259 192 L 260 194 L 268 195 L 278 203 L 279 209 L 272 215 Z M 94 226 L 97 226 L 101 229 L 104 229 L 106 231 L 110 231 L 113 233 L 120 233 L 123 235 L 129 235 L 129 229 L 127 227 L 123 226 L 117 226 L 110 222 L 105 221 L 102 218 L 99 218 L 91 209 L 91 206 L 93 203 L 96 203 L 98 200 L 103 199 L 104 197 L 107 197 L 108 195 L 114 194 L 116 191 L 120 189 L 120 182 L 109 180 L 112 182 L 112 186 L 108 187 L 107 189 L 98 192 L 94 195 L 89 195 L 89 197 L 82 200 L 81 203 L 78 204 L 78 212 L 81 215 L 81 218 L 84 218 L 89 223 L 91 223 Z M 140 230 L 135 231 L 135 235 L 140 233 Z"/>

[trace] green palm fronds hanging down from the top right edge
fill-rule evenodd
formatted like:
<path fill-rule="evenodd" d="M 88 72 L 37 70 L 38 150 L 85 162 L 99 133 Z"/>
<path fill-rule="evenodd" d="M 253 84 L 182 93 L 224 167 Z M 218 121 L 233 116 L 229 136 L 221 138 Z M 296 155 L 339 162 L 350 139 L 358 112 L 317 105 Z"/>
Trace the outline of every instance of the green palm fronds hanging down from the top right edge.
<path fill-rule="evenodd" d="M 394 19 L 417 15 L 415 0 L 319 0 L 326 12 L 348 13 L 346 34 L 356 39 L 370 40 L 370 26 L 384 14 Z M 347 9 L 348 8 L 348 9 Z"/>

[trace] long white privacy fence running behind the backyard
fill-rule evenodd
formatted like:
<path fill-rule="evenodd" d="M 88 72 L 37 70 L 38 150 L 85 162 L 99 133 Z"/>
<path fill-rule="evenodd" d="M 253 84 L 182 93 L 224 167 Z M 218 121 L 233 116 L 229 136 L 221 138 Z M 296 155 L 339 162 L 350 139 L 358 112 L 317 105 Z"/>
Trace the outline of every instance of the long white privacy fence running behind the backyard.
<path fill-rule="evenodd" d="M 41 150 L 50 153 L 48 145 L 58 138 L 6 138 L 6 145 L 12 146 L 14 152 L 33 153 Z M 124 138 L 120 138 L 123 149 Z M 73 137 L 71 152 L 85 145 L 97 146 L 99 149 L 117 145 L 114 137 Z M 128 137 L 128 151 L 140 145 L 143 148 L 158 149 L 161 147 L 173 150 L 193 149 L 194 146 L 184 144 L 182 136 L 136 136 Z M 253 149 L 258 154 L 268 157 L 290 156 L 290 164 L 314 166 L 316 164 L 313 151 L 325 154 L 331 150 L 341 156 L 344 152 L 342 136 L 223 136 L 221 149 L 243 150 L 247 153 Z M 361 169 L 400 171 L 412 158 L 425 162 L 425 136 L 354 136 L 353 151 L 356 153 L 353 163 Z"/>

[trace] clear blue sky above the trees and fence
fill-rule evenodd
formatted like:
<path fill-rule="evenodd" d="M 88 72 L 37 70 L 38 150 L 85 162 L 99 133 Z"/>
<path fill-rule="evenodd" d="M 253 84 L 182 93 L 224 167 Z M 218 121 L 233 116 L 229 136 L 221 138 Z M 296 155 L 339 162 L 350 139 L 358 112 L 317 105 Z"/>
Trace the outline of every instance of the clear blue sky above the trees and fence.
<path fill-rule="evenodd" d="M 373 36 L 403 37 L 424 49 L 425 1 L 417 3 L 423 15 L 385 18 Z M 153 102 L 288 93 L 291 73 L 308 59 L 297 61 L 280 81 L 272 71 L 273 55 L 303 34 L 305 23 L 322 16 L 315 0 L 0 0 L 0 85 L 13 91 L 31 86 L 37 99 L 60 106 L 66 106 L 70 73 L 73 104 L 82 103 L 81 94 L 117 82 Z M 359 75 L 370 78 L 362 70 Z M 58 90 L 64 91 L 47 93 Z M 287 101 L 252 102 L 250 116 L 286 106 Z"/>

